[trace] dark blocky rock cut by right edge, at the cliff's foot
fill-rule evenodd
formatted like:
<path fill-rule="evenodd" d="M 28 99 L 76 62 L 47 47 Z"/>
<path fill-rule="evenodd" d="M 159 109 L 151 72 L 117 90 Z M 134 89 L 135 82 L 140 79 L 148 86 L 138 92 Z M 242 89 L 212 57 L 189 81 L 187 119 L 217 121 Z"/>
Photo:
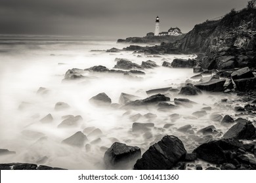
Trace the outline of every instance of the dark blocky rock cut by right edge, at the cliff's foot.
<path fill-rule="evenodd" d="M 256 77 L 234 80 L 234 83 L 238 91 L 245 92 L 246 90 L 256 89 Z"/>

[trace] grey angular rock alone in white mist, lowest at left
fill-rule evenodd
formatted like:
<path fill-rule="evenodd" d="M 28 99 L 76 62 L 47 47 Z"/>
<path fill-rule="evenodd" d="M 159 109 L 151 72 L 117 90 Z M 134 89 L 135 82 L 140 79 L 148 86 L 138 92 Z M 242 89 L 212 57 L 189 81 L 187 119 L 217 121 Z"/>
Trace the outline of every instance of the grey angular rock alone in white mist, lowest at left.
<path fill-rule="evenodd" d="M 64 139 L 62 143 L 81 148 L 85 145 L 85 142 L 87 141 L 88 139 L 86 135 L 84 135 L 81 131 L 77 131 L 77 133 L 75 133 L 74 135 L 68 137 L 67 139 Z"/>

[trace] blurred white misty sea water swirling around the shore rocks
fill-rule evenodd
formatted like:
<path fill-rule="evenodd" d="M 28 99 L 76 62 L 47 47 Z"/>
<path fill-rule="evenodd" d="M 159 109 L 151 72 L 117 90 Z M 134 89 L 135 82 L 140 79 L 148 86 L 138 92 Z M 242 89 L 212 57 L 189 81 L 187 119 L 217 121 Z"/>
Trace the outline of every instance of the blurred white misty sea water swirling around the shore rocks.
<path fill-rule="evenodd" d="M 242 105 L 230 102 L 237 99 L 236 95 L 202 93 L 198 96 L 182 96 L 178 92 L 167 92 L 166 95 L 171 98 L 170 103 L 173 103 L 174 98 L 188 98 L 197 103 L 192 108 L 180 107 L 168 111 L 154 107 L 100 107 L 89 103 L 91 97 L 102 92 L 112 99 L 112 103 L 119 103 L 121 93 L 145 99 L 149 96 L 147 90 L 165 87 L 180 89 L 181 84 L 195 75 L 192 69 L 161 67 L 163 59 L 171 62 L 174 58 L 188 59 L 195 58 L 195 55 L 148 56 L 133 52 L 90 52 L 125 46 L 114 41 L 1 41 L 0 148 L 15 151 L 16 154 L 0 156 L 0 162 L 37 163 L 66 169 L 106 169 L 104 152 L 116 141 L 139 146 L 143 153 L 164 135 L 176 135 L 186 150 L 192 152 L 198 144 L 207 141 L 207 136 L 198 131 L 209 125 L 215 125 L 220 132 L 213 134 L 213 139 L 221 138 L 220 134 L 228 127 L 210 120 L 209 116 L 229 114 L 235 117 L 234 105 Z M 104 65 L 112 69 L 116 65 L 115 58 L 130 59 L 138 64 L 150 59 L 160 67 L 145 69 L 146 75 L 137 76 L 86 71 L 83 75 L 87 77 L 83 80 L 62 81 L 66 71 L 72 68 L 86 69 Z M 47 88 L 47 92 L 38 94 L 40 87 Z M 223 98 L 228 99 L 228 102 L 221 103 Z M 70 108 L 54 110 L 55 104 L 60 101 L 68 103 Z M 192 115 L 207 106 L 212 107 L 212 110 L 207 111 L 206 116 L 196 118 Z M 156 116 L 150 119 L 143 116 L 149 112 Z M 142 117 L 138 120 L 131 118 L 139 113 Z M 180 116 L 171 119 L 170 115 L 175 113 Z M 40 122 L 47 114 L 53 116 L 53 122 Z M 58 128 L 64 120 L 62 116 L 66 115 L 80 115 L 83 120 L 75 127 Z M 147 134 L 132 132 L 131 127 L 135 121 L 152 122 L 154 128 Z M 163 128 L 165 124 L 171 125 Z M 192 125 L 194 133 L 177 131 L 177 128 L 188 124 Z M 102 134 L 89 135 L 96 128 Z M 86 150 L 85 146 L 75 148 L 62 143 L 77 131 L 87 135 L 86 144 L 91 144 L 90 150 Z"/>

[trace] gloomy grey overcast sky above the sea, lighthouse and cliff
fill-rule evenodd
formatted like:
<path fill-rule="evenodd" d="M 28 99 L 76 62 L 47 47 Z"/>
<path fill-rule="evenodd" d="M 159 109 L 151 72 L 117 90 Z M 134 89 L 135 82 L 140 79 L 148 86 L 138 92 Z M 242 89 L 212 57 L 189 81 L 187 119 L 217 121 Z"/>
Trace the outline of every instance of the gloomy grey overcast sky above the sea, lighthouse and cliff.
<path fill-rule="evenodd" d="M 125 38 L 222 16 L 247 0 L 0 0 L 0 34 Z"/>

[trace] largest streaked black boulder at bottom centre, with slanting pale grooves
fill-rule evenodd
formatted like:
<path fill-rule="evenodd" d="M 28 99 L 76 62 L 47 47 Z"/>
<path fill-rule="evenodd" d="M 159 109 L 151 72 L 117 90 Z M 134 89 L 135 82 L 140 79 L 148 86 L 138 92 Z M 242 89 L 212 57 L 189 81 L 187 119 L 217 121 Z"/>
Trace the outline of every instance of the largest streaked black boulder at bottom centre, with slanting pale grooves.
<path fill-rule="evenodd" d="M 168 170 L 186 156 L 181 140 L 175 136 L 165 136 L 150 146 L 134 165 L 135 170 Z"/>

